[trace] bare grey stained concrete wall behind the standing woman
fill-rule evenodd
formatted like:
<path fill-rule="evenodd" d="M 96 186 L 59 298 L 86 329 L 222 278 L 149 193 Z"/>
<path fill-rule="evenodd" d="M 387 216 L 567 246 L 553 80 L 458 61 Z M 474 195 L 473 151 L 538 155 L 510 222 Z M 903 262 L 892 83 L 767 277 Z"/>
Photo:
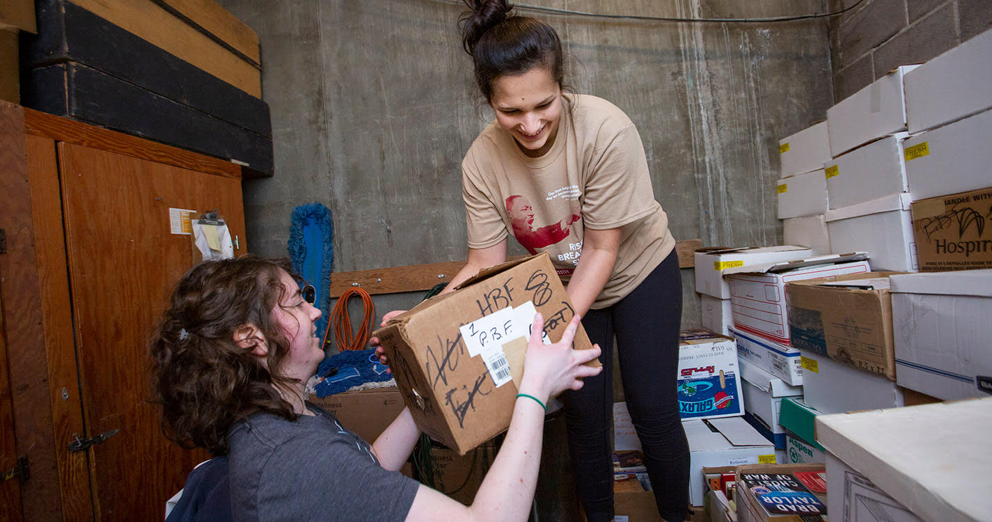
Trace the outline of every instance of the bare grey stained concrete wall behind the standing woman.
<path fill-rule="evenodd" d="M 246 181 L 249 248 L 285 255 L 290 214 L 327 205 L 334 270 L 464 259 L 459 163 L 491 120 L 451 0 L 222 0 L 262 42 L 276 175 Z M 822 0 L 541 0 L 578 11 L 681 17 L 822 12 Z M 769 245 L 777 140 L 832 103 L 825 21 L 680 24 L 536 15 L 558 29 L 569 83 L 625 110 L 680 239 Z M 511 241 L 516 247 L 515 241 Z M 522 253 L 519 247 L 514 253 Z M 683 270 L 684 326 L 697 326 Z M 419 300 L 376 298 L 389 310 Z"/>

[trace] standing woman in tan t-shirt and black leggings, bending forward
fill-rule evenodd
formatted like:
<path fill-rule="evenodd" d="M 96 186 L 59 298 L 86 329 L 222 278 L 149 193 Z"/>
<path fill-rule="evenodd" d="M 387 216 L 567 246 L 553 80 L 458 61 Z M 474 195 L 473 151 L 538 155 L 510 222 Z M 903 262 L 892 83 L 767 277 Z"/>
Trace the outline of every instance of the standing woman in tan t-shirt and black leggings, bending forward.
<path fill-rule="evenodd" d="M 513 234 L 548 251 L 606 366 L 564 394 L 568 447 L 590 521 L 613 518 L 613 339 L 658 510 L 681 521 L 688 445 L 677 396 L 682 279 L 668 217 L 655 200 L 641 137 L 612 103 L 562 93 L 558 34 L 510 14 L 506 0 L 466 0 L 463 45 L 496 121 L 462 161 L 468 263 L 448 288 L 505 261 Z"/>

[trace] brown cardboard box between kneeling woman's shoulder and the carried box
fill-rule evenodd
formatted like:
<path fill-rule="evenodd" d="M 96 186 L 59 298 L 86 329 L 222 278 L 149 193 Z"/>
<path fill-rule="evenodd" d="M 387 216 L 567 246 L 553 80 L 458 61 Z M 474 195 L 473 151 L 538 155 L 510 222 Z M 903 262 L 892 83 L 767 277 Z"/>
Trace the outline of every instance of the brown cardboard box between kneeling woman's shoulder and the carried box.
<path fill-rule="evenodd" d="M 403 394 L 395 386 L 347 391 L 328 397 L 311 396 L 309 400 L 334 414 L 342 426 L 369 444 L 379 438 L 406 406 Z"/>

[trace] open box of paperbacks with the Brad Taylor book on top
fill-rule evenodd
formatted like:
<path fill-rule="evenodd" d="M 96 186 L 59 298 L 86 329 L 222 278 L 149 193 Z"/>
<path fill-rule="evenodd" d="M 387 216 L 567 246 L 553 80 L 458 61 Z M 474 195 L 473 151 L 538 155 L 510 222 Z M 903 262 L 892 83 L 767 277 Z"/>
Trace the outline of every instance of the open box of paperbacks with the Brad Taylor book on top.
<path fill-rule="evenodd" d="M 797 478 L 797 473 L 815 474 L 814 491 Z M 792 475 L 792 476 L 790 476 Z M 823 464 L 754 464 L 737 466 L 735 500 L 741 522 L 812 522 L 826 520 L 828 501 Z M 756 482 L 753 487 L 749 483 Z M 776 492 L 782 494 L 775 495 Z M 765 496 L 769 507 L 759 497 Z M 773 514 L 774 507 L 782 511 Z"/>

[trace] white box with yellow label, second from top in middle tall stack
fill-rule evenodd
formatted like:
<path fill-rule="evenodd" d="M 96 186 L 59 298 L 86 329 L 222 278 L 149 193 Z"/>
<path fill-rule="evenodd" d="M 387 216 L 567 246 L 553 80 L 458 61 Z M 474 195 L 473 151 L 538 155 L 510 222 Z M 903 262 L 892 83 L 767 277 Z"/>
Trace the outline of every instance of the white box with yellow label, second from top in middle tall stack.
<path fill-rule="evenodd" d="M 830 208 L 908 192 L 902 146 L 908 136 L 886 136 L 823 164 Z"/>

